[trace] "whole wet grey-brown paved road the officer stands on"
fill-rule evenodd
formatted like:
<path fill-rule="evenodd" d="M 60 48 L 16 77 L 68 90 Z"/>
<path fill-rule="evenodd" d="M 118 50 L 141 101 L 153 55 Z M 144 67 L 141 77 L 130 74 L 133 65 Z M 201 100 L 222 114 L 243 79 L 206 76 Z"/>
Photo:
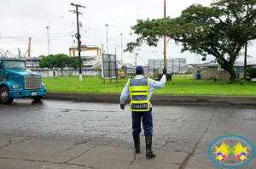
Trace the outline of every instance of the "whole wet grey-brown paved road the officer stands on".
<path fill-rule="evenodd" d="M 119 104 L 0 104 L 0 168 L 223 168 L 207 155 L 213 140 L 238 135 L 256 146 L 255 106 L 155 105 L 153 115 L 157 156 L 147 161 L 134 154 L 131 111 Z M 256 168 L 255 158 L 241 168 Z"/>

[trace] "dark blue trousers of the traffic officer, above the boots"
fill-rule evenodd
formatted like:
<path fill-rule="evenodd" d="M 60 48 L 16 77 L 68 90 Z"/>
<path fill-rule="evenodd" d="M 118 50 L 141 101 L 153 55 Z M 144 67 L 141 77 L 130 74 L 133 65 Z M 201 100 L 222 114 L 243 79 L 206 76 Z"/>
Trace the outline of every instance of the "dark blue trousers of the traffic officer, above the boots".
<path fill-rule="evenodd" d="M 153 135 L 152 108 L 148 111 L 131 111 L 132 115 L 132 135 L 139 135 L 142 132 L 141 122 L 143 117 L 143 129 L 145 136 Z"/>

